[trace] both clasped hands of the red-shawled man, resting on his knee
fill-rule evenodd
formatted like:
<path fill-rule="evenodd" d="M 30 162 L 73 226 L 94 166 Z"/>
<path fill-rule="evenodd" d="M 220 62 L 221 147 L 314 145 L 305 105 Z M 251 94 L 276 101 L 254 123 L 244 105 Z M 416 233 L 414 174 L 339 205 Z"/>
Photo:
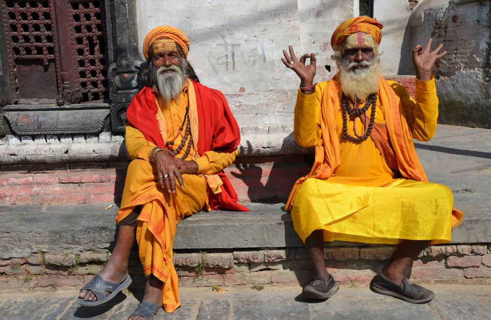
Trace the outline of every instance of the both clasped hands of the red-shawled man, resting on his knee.
<path fill-rule="evenodd" d="M 176 179 L 180 187 L 184 188 L 182 175 L 193 175 L 198 171 L 196 162 L 173 158 L 165 150 L 155 154 L 154 162 L 157 167 L 159 185 L 169 193 L 175 193 Z"/>

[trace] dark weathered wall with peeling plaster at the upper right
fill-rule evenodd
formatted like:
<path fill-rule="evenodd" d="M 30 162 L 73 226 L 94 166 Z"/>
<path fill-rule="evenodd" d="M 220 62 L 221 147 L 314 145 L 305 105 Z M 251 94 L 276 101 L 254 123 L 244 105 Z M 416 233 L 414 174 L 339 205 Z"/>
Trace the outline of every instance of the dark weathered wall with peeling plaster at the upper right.
<path fill-rule="evenodd" d="M 435 71 L 441 123 L 491 128 L 491 1 L 423 0 L 411 45 L 432 34 L 448 51 Z"/>

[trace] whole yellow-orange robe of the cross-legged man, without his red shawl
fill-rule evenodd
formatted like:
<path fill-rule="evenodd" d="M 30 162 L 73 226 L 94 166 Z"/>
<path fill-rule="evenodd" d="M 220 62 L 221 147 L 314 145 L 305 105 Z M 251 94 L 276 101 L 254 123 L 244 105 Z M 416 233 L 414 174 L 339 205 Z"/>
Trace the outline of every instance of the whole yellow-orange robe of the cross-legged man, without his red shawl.
<path fill-rule="evenodd" d="M 190 105 L 191 110 L 192 105 L 196 105 L 193 86 L 189 84 L 189 81 L 186 82 L 179 98 L 173 100 L 166 108 L 163 101 L 157 99 L 160 111 L 156 117 L 164 141 L 172 140 L 177 135 L 178 128 L 184 120 L 186 106 Z M 190 112 L 189 121 L 196 143 L 197 115 Z M 175 139 L 175 147 L 180 145 L 183 136 L 184 130 Z M 170 195 L 158 185 L 156 167 L 150 159 L 151 151 L 155 147 L 156 145 L 145 139 L 140 130 L 131 125 L 126 126 L 126 148 L 132 161 L 126 174 L 121 208 L 116 221 L 119 223 L 135 206 L 142 206 L 136 230 L 140 261 L 145 276 L 153 274 L 164 282 L 162 305 L 166 312 L 173 312 L 181 305 L 177 273 L 173 266 L 172 246 L 175 228 L 179 220 L 185 216 L 202 209 L 210 210 L 207 192 L 215 192 L 220 188 L 214 174 L 230 166 L 237 151 L 211 150 L 198 157 L 195 145 L 191 145 L 186 160 L 194 160 L 198 164 L 198 172 L 195 175 L 183 175 L 184 188 L 181 188 L 176 180 L 176 193 Z M 176 157 L 182 157 L 186 148 L 187 143 Z"/>

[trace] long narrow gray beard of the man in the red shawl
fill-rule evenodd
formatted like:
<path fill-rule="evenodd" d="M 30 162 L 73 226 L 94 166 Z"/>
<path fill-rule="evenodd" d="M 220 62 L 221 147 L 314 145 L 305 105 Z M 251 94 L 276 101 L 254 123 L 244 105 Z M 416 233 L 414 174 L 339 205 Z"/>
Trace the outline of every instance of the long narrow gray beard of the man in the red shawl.
<path fill-rule="evenodd" d="M 165 72 L 166 70 L 173 70 L 174 72 Z M 169 105 L 181 94 L 186 77 L 182 66 L 171 65 L 156 68 L 152 65 L 152 80 L 155 91 L 164 99 L 165 104 Z"/>

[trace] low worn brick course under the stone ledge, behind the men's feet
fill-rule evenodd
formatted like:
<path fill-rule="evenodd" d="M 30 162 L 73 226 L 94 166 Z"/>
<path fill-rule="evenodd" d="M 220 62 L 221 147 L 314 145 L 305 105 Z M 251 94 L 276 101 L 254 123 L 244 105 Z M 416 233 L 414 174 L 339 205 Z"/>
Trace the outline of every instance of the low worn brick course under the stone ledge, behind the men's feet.
<path fill-rule="evenodd" d="M 327 270 L 345 286 L 368 284 L 389 262 L 394 246 L 326 246 Z M 109 250 L 76 253 L 39 252 L 0 259 L 0 290 L 18 288 L 80 288 L 97 274 Z M 204 261 L 204 263 L 203 263 Z M 182 287 L 236 285 L 305 285 L 312 270 L 304 248 L 264 248 L 255 251 L 174 253 Z M 201 271 L 200 271 L 201 270 Z M 136 250 L 130 255 L 134 286 L 144 282 Z M 491 284 L 491 245 L 428 247 L 414 262 L 411 279 L 428 284 Z"/>

